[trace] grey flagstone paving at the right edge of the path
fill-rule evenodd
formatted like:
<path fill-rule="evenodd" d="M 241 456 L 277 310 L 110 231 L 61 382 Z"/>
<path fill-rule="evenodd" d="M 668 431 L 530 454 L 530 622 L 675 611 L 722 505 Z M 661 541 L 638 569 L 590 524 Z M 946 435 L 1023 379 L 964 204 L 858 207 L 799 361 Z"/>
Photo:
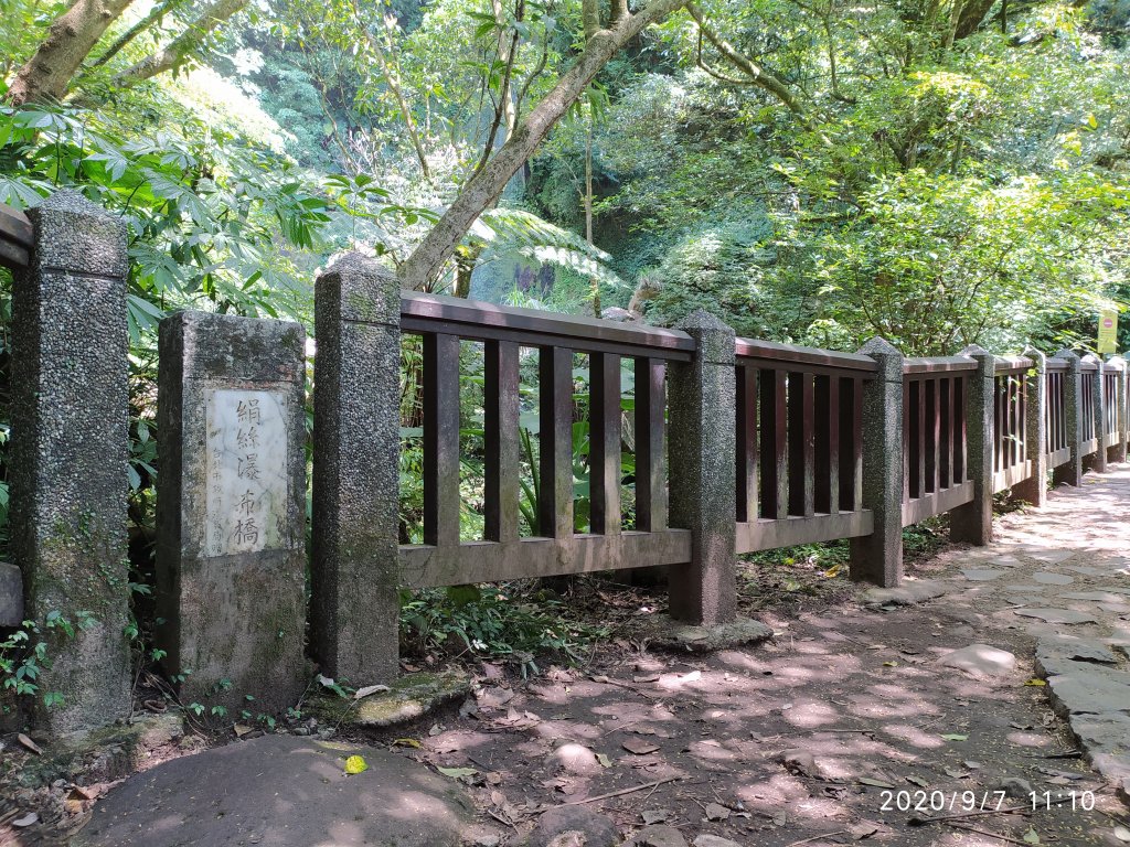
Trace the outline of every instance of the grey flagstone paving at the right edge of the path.
<path fill-rule="evenodd" d="M 1008 515 L 996 543 L 953 552 L 948 602 L 1036 639 L 1036 672 L 1095 767 L 1130 794 L 1130 468 Z"/>

